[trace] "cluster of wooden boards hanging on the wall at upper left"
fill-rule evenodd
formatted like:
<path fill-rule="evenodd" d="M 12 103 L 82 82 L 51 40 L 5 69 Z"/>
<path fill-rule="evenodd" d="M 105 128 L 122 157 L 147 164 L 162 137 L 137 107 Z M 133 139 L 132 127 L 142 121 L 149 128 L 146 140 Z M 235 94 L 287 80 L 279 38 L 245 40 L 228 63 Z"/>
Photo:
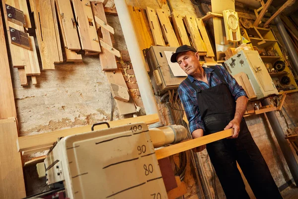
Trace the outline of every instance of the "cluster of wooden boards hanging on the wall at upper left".
<path fill-rule="evenodd" d="M 28 85 L 27 76 L 37 84 L 40 65 L 42 70 L 53 70 L 57 63 L 80 62 L 81 54 L 98 54 L 103 51 L 100 47 L 106 49 L 103 56 L 120 57 L 98 36 L 99 28 L 114 30 L 93 17 L 89 0 L 29 0 L 29 6 L 26 0 L 2 0 L 2 7 L 12 65 L 18 68 L 22 86 Z M 115 66 L 103 70 L 116 70 Z"/>

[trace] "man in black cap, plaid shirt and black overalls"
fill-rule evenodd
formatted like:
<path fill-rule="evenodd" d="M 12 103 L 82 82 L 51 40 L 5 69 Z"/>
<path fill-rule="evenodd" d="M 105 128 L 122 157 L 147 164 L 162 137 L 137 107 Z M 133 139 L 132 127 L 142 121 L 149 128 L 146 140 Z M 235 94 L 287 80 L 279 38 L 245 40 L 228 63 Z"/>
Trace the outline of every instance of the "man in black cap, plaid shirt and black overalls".
<path fill-rule="evenodd" d="M 192 137 L 234 128 L 230 138 L 207 144 L 226 198 L 249 199 L 237 161 L 257 199 L 282 199 L 243 118 L 248 101 L 245 91 L 223 67 L 202 67 L 199 58 L 196 49 L 183 45 L 171 56 L 171 62 L 177 62 L 188 75 L 178 93 Z"/>

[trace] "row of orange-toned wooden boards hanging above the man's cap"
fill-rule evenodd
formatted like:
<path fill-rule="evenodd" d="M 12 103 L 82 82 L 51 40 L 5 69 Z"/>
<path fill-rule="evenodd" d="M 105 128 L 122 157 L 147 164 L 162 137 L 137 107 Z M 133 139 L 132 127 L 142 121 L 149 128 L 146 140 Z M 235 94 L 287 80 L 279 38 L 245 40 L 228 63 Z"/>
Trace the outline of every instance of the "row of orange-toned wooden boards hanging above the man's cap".
<path fill-rule="evenodd" d="M 191 45 L 204 56 L 205 62 L 215 62 L 204 22 L 200 18 L 183 16 L 175 11 L 169 17 L 168 10 L 164 9 L 128 7 L 135 21 L 134 26 L 142 50 L 151 45 L 171 47 Z"/>

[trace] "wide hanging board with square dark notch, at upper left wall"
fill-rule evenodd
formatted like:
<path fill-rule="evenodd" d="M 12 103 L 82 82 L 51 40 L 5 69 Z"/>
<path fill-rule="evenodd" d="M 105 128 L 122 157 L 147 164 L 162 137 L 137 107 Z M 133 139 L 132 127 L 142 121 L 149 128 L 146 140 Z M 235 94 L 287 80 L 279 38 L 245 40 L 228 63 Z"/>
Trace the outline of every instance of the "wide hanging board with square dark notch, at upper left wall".
<path fill-rule="evenodd" d="M 72 0 L 83 50 L 101 52 L 90 1 Z"/>

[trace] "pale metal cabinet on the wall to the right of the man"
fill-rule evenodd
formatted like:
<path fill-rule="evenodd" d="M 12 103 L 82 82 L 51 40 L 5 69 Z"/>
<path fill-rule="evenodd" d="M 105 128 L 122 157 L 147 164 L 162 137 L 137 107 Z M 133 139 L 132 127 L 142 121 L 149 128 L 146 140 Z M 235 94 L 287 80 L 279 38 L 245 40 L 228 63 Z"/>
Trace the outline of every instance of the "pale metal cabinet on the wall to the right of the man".
<path fill-rule="evenodd" d="M 242 50 L 224 62 L 232 76 L 244 72 L 251 82 L 257 100 L 276 94 L 278 91 L 258 53 Z"/>

